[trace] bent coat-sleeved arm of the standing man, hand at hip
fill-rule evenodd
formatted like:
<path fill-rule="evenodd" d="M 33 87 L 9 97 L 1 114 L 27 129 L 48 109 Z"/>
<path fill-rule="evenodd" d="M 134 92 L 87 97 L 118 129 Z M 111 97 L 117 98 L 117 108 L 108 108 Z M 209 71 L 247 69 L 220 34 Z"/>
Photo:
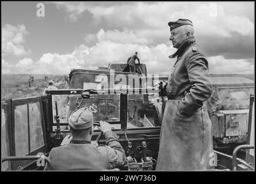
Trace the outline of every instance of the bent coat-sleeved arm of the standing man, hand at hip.
<path fill-rule="evenodd" d="M 192 52 L 186 59 L 190 85 L 189 93 L 185 95 L 180 109 L 191 113 L 202 107 L 202 102 L 212 95 L 212 85 L 209 81 L 208 62 L 200 52 Z"/>

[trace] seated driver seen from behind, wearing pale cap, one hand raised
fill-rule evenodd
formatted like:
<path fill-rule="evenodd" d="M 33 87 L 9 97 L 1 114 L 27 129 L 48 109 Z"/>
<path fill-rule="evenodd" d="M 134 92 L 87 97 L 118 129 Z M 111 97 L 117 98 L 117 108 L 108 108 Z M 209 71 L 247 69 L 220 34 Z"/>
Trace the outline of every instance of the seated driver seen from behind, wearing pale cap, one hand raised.
<path fill-rule="evenodd" d="M 125 151 L 108 122 L 100 121 L 98 127 L 104 133 L 106 145 L 91 143 L 93 113 L 90 109 L 75 110 L 68 124 L 72 137 L 64 138 L 68 144 L 52 148 L 48 156 L 51 164 L 46 165 L 45 170 L 111 170 L 122 165 Z"/>

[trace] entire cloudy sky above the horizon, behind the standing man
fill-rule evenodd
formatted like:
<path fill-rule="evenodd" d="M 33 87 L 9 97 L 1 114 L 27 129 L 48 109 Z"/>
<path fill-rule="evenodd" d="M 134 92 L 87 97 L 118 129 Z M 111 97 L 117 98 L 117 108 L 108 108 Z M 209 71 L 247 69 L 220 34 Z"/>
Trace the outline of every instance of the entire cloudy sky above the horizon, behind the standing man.
<path fill-rule="evenodd" d="M 38 3 L 1 2 L 3 74 L 97 69 L 135 51 L 148 74 L 168 74 L 178 18 L 193 22 L 211 74 L 254 74 L 254 2 L 43 2 L 44 17 Z"/>

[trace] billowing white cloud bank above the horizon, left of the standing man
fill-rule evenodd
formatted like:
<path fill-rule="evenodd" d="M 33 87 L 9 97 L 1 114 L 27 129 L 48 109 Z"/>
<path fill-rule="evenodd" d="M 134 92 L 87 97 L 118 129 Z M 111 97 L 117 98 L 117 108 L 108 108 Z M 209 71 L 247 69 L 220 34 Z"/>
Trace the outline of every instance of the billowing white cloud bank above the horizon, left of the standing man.
<path fill-rule="evenodd" d="M 135 51 L 139 53 L 140 61 L 147 64 L 148 73 L 157 73 L 161 69 L 166 70 L 166 65 L 170 64 L 170 59 L 167 56 L 170 55 L 170 51 L 173 50 L 174 52 L 172 47 L 170 48 L 165 44 L 149 47 L 136 44 L 136 41 L 129 44 L 123 41 L 118 42 L 112 38 L 111 32 L 110 34 L 107 33 L 106 36 L 105 33 L 104 29 L 100 30 L 95 45 L 91 47 L 81 44 L 75 47 L 73 52 L 66 55 L 45 53 L 36 62 L 24 58 L 15 66 L 9 65 L 5 68 L 14 73 L 67 74 L 72 68 L 96 70 L 98 66 L 107 67 L 109 63 L 126 63 L 127 58 L 133 55 Z M 160 65 L 159 60 L 162 62 Z M 155 70 L 156 68 L 158 70 Z"/>

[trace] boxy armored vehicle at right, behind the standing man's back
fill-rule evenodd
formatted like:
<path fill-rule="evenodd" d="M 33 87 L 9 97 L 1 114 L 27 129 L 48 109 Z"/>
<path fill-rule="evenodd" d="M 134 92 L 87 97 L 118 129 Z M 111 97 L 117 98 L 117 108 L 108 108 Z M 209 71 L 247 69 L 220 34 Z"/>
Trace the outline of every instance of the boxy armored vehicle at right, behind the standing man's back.
<path fill-rule="evenodd" d="M 254 81 L 238 76 L 215 76 L 211 82 L 213 95 L 207 105 L 215 147 L 246 143 L 250 94 L 254 94 Z"/>

